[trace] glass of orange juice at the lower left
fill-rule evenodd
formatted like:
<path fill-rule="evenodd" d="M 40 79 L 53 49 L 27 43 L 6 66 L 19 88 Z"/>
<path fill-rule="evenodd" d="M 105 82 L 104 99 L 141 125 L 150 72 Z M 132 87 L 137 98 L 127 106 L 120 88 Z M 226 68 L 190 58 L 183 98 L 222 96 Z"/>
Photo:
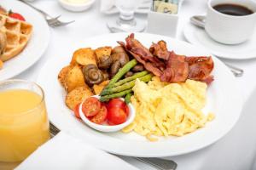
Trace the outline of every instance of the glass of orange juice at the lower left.
<path fill-rule="evenodd" d="M 26 159 L 49 139 L 44 91 L 34 82 L 0 82 L 0 162 Z"/>

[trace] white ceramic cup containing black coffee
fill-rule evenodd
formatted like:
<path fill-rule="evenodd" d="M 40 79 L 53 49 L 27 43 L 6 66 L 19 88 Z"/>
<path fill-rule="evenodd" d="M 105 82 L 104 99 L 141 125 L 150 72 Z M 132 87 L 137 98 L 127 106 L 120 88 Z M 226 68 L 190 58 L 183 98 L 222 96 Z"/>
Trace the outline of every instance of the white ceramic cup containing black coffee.
<path fill-rule="evenodd" d="M 234 16 L 215 10 L 218 4 L 237 4 L 249 8 L 253 14 Z M 207 34 L 217 42 L 237 44 L 252 37 L 256 27 L 256 3 L 252 0 L 209 0 L 207 4 Z M 256 47 L 256 46 L 255 46 Z"/>

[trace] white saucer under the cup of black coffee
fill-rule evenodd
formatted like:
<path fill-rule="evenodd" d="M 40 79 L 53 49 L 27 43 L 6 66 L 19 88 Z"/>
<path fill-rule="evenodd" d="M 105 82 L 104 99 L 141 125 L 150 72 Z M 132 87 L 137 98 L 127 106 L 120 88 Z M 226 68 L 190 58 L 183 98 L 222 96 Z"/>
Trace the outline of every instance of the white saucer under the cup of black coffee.
<path fill-rule="evenodd" d="M 188 23 L 183 29 L 184 37 L 195 45 L 206 48 L 212 54 L 224 59 L 253 59 L 256 58 L 256 30 L 253 36 L 241 44 L 226 45 L 214 41 L 207 32 Z"/>

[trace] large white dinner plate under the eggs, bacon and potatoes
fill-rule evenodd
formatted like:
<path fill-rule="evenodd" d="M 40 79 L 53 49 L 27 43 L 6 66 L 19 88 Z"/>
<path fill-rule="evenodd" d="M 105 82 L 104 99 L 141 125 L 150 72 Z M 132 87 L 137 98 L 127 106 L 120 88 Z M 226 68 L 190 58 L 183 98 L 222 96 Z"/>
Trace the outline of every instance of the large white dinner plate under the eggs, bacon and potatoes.
<path fill-rule="evenodd" d="M 162 157 L 177 156 L 199 150 L 216 142 L 228 133 L 235 125 L 241 112 L 241 94 L 236 85 L 236 79 L 230 70 L 219 60 L 213 57 L 215 77 L 214 82 L 207 89 L 206 111 L 212 111 L 216 118 L 202 127 L 183 137 L 161 137 L 157 142 L 149 142 L 145 137 L 137 133 L 101 133 L 83 122 L 80 122 L 67 109 L 64 103 L 65 91 L 57 80 L 61 68 L 68 65 L 73 52 L 78 48 L 102 46 L 116 46 L 116 41 L 124 41 L 128 33 L 106 34 L 100 37 L 84 38 L 84 41 L 73 43 L 70 48 L 55 50 L 55 57 L 49 59 L 38 76 L 38 83 L 44 88 L 49 120 L 61 130 L 65 130 L 74 136 L 84 139 L 84 142 L 94 145 L 96 148 L 124 156 Z M 188 42 L 182 42 L 171 37 L 163 37 L 153 34 L 136 33 L 135 37 L 146 47 L 151 42 L 165 40 L 169 50 L 177 54 L 208 55 L 206 51 Z"/>

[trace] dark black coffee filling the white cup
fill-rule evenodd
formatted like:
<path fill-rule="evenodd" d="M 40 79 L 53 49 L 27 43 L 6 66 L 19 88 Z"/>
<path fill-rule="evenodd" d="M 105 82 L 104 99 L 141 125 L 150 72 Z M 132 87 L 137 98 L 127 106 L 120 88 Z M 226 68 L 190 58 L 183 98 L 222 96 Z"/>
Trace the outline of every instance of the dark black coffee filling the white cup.
<path fill-rule="evenodd" d="M 253 11 L 251 9 L 237 4 L 223 3 L 215 5 L 213 8 L 220 13 L 230 14 L 234 16 L 253 14 Z"/>

